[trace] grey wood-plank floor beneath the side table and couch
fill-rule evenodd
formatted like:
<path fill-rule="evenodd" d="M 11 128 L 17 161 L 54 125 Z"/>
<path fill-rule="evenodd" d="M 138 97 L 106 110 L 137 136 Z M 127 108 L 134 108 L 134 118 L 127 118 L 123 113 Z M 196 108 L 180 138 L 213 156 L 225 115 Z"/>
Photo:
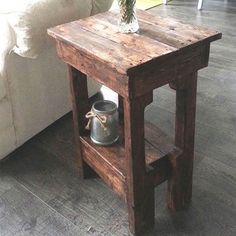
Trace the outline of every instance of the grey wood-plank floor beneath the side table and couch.
<path fill-rule="evenodd" d="M 236 235 L 236 1 L 171 1 L 151 12 L 223 32 L 200 71 L 193 199 L 188 211 L 166 209 L 156 188 L 155 228 L 147 235 Z M 146 118 L 173 136 L 175 94 L 155 91 Z M 150 109 L 152 108 L 152 109 Z M 128 235 L 125 205 L 99 179 L 79 180 L 71 114 L 0 163 L 0 236 Z"/>

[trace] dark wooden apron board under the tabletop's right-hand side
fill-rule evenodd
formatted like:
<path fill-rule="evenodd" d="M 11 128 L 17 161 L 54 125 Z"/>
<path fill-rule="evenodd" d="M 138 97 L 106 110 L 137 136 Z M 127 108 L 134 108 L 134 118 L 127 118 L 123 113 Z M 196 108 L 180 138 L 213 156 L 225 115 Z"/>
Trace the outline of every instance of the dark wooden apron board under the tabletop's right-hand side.
<path fill-rule="evenodd" d="M 209 44 L 206 44 L 180 52 L 175 57 L 167 55 L 157 64 L 152 61 L 144 65 L 142 70 L 130 70 L 130 74 L 135 78 L 133 93 L 140 96 L 173 80 L 184 80 L 192 71 L 206 67 L 208 57 Z"/>

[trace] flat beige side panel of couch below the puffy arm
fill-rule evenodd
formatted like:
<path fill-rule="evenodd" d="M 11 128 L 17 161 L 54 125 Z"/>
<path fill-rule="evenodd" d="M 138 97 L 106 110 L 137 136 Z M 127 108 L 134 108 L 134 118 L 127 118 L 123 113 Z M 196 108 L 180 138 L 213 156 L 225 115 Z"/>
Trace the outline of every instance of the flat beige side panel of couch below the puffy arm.
<path fill-rule="evenodd" d="M 10 55 L 7 74 L 11 78 L 17 145 L 71 110 L 67 68 L 57 58 L 55 47 L 44 50 L 34 60 Z M 90 96 L 100 88 L 91 80 L 88 87 Z"/>

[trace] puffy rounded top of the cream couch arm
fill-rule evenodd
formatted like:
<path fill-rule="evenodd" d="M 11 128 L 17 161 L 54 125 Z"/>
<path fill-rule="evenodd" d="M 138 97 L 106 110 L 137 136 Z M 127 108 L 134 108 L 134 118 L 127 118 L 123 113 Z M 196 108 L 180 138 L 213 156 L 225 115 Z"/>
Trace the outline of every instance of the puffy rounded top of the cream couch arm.
<path fill-rule="evenodd" d="M 0 14 L 7 17 L 17 37 L 14 51 L 35 58 L 49 41 L 46 30 L 91 14 L 92 0 L 7 0 Z"/>

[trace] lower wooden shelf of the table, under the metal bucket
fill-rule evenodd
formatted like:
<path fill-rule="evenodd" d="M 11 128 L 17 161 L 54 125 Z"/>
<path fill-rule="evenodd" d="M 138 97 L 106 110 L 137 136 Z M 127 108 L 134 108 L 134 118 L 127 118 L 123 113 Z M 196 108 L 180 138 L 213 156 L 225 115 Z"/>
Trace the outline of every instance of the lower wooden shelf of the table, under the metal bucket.
<path fill-rule="evenodd" d="M 122 130 L 122 128 L 121 128 Z M 126 199 L 125 149 L 120 140 L 112 146 L 95 145 L 89 136 L 80 137 L 84 161 L 122 198 Z M 147 178 L 158 185 L 168 178 L 168 159 L 182 151 L 156 126 L 145 122 L 145 157 Z"/>

